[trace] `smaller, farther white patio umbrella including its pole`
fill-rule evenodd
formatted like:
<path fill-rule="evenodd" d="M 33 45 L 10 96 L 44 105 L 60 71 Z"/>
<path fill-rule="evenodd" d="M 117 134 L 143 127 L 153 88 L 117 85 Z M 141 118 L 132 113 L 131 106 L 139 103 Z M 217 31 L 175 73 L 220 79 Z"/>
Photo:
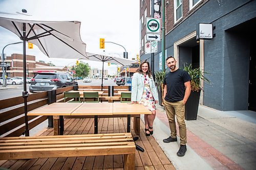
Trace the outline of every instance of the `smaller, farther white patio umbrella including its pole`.
<path fill-rule="evenodd" d="M 114 57 L 114 56 L 111 56 L 111 55 L 93 54 L 93 53 L 87 53 L 87 58 L 85 58 L 84 60 L 101 61 L 102 62 L 101 91 L 102 91 L 102 88 L 103 88 L 104 62 L 110 62 L 110 63 L 114 63 L 114 64 L 119 64 L 119 65 L 129 65 L 129 64 L 132 64 L 132 63 L 136 62 L 134 60 L 128 60 L 128 59 L 125 59 L 125 58 Z"/>

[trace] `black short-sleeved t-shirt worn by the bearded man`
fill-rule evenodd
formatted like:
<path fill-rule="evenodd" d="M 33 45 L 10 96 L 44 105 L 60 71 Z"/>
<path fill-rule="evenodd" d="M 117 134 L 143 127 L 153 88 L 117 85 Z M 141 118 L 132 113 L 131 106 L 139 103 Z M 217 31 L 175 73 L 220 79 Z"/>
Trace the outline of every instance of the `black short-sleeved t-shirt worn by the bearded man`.
<path fill-rule="evenodd" d="M 168 72 L 163 80 L 163 84 L 167 85 L 167 93 L 164 100 L 168 102 L 182 101 L 185 94 L 184 83 L 190 80 L 190 76 L 184 70 L 177 69 L 174 72 Z"/>

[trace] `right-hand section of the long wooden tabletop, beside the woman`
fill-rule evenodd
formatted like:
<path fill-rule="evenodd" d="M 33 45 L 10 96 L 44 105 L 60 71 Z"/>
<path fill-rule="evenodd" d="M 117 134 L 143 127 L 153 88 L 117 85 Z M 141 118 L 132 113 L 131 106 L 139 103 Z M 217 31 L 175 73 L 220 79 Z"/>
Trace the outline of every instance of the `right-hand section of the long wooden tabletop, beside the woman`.
<path fill-rule="evenodd" d="M 141 104 L 113 103 L 114 114 L 151 114 L 151 111 Z"/>

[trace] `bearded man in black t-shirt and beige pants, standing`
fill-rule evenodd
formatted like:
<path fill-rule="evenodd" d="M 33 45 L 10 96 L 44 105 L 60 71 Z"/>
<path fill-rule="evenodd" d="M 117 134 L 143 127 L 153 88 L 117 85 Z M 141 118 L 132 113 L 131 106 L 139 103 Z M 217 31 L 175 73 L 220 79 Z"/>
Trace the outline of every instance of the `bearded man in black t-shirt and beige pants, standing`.
<path fill-rule="evenodd" d="M 166 115 L 170 126 L 170 137 L 163 139 L 163 142 L 169 143 L 177 141 L 175 115 L 179 125 L 180 132 L 180 149 L 177 152 L 178 156 L 184 156 L 187 148 L 187 135 L 185 124 L 185 104 L 190 95 L 190 76 L 184 70 L 176 67 L 177 61 L 174 57 L 166 58 L 166 64 L 170 68 L 163 80 L 165 85 L 163 91 L 163 99 Z"/>

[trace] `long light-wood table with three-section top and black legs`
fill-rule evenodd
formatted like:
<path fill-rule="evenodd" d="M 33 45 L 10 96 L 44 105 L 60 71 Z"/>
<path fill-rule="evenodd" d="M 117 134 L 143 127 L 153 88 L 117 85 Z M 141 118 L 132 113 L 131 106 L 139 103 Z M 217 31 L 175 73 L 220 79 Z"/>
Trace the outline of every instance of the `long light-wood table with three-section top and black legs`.
<path fill-rule="evenodd" d="M 66 110 L 65 110 L 66 108 Z M 140 104 L 127 103 L 54 103 L 33 110 L 28 115 L 52 115 L 54 120 L 54 135 L 63 134 L 63 115 L 93 115 L 94 133 L 98 133 L 98 115 L 127 114 L 127 132 L 131 130 L 131 114 L 151 114 L 147 108 Z M 139 117 L 138 117 L 139 118 Z M 135 121 L 139 121 L 135 118 Z"/>

